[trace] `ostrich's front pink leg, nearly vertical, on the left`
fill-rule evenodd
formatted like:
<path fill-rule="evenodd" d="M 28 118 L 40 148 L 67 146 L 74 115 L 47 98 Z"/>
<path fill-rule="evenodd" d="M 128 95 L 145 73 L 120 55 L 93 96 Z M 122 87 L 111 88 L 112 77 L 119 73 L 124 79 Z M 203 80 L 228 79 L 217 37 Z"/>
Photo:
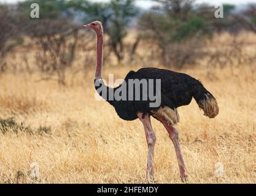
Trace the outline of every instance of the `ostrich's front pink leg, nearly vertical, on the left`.
<path fill-rule="evenodd" d="M 150 116 L 145 115 L 145 117 L 142 118 L 142 113 L 139 112 L 138 117 L 143 124 L 144 130 L 145 130 L 145 137 L 147 139 L 148 154 L 147 154 L 146 178 L 147 178 L 147 181 L 150 183 L 150 181 L 153 181 L 153 149 L 155 146 L 156 137 L 152 129 Z"/>

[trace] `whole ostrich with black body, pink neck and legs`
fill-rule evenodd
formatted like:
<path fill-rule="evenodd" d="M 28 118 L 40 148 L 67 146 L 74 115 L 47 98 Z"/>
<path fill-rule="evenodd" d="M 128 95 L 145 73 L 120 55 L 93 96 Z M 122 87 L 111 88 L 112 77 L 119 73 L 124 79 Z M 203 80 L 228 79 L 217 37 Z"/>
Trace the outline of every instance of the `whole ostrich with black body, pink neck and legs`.
<path fill-rule="evenodd" d="M 110 88 L 104 84 L 101 77 L 102 64 L 103 64 L 103 27 L 101 22 L 93 21 L 88 25 L 84 25 L 85 28 L 93 29 L 96 33 L 96 71 L 95 71 L 95 89 L 105 88 L 106 92 L 116 92 L 122 88 L 122 84 L 116 88 Z M 99 92 L 109 104 L 111 104 L 117 115 L 126 120 L 133 121 L 139 118 L 142 122 L 145 137 L 147 140 L 148 154 L 147 154 L 147 181 L 153 180 L 153 151 L 155 146 L 155 133 L 153 132 L 150 116 L 160 121 L 169 134 L 169 138 L 173 141 L 174 149 L 176 152 L 180 178 L 182 181 L 187 181 L 188 172 L 184 164 L 184 159 L 180 151 L 178 131 L 174 125 L 179 122 L 179 114 L 177 113 L 177 107 L 190 104 L 192 97 L 196 100 L 198 106 L 203 109 L 204 115 L 209 118 L 214 118 L 219 113 L 219 107 L 214 96 L 211 92 L 204 88 L 202 83 L 196 80 L 190 75 L 174 72 L 166 69 L 157 69 L 153 67 L 142 68 L 137 72 L 130 71 L 125 79 L 124 83 L 128 88 L 130 79 L 147 80 L 160 79 L 161 80 L 161 94 L 160 105 L 157 107 L 150 107 L 150 100 L 117 100 L 109 99 L 109 97 L 103 96 L 103 92 Z M 139 86 L 141 88 L 141 86 Z M 136 89 L 135 89 L 136 90 Z M 130 91 L 128 91 L 128 94 Z M 142 97 L 142 91 L 139 92 Z M 128 97 L 128 94 L 126 95 Z"/>

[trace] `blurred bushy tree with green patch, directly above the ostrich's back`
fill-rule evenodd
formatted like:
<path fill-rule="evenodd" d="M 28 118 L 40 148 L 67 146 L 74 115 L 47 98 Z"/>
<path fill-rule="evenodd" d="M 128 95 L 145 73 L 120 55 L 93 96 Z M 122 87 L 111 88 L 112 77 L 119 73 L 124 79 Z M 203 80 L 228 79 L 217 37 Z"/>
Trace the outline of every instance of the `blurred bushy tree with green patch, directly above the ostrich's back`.
<path fill-rule="evenodd" d="M 211 35 L 204 18 L 196 15 L 193 1 L 155 0 L 160 3 L 139 20 L 144 37 L 157 43 L 165 66 L 195 63 L 203 53 L 204 37 Z"/>

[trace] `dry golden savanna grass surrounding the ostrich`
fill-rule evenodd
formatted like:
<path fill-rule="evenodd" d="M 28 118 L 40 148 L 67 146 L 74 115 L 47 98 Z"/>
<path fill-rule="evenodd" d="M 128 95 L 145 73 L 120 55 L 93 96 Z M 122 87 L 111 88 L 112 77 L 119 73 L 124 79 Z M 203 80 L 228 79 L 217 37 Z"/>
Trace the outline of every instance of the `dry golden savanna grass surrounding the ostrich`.
<path fill-rule="evenodd" d="M 250 42 L 255 49 L 255 37 Z M 124 78 L 139 67 L 108 62 L 104 78 Z M 202 63 L 179 71 L 200 79 L 220 108 L 214 119 L 203 116 L 195 100 L 178 109 L 188 183 L 256 183 L 255 65 L 220 69 Z M 111 105 L 95 100 L 93 75 L 93 70 L 86 77 L 77 74 L 66 87 L 39 80 L 39 74 L 0 76 L 0 183 L 145 182 L 142 124 L 123 121 Z M 173 143 L 158 121 L 152 124 L 155 183 L 182 183 Z M 36 179 L 29 175 L 33 162 L 40 169 Z M 214 176 L 217 162 L 224 166 L 223 178 Z"/>

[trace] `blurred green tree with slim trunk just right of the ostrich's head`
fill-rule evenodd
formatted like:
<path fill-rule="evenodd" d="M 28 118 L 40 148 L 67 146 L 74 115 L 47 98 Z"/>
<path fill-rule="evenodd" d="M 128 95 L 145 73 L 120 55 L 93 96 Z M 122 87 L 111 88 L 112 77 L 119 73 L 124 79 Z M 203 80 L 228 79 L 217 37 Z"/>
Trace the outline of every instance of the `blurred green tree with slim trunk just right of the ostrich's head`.
<path fill-rule="evenodd" d="M 123 39 L 127 34 L 130 21 L 138 14 L 134 0 L 111 0 L 110 2 L 91 2 L 71 0 L 67 7 L 83 13 L 83 23 L 99 20 L 103 23 L 104 32 L 109 37 L 111 51 L 118 62 L 124 58 Z"/>

